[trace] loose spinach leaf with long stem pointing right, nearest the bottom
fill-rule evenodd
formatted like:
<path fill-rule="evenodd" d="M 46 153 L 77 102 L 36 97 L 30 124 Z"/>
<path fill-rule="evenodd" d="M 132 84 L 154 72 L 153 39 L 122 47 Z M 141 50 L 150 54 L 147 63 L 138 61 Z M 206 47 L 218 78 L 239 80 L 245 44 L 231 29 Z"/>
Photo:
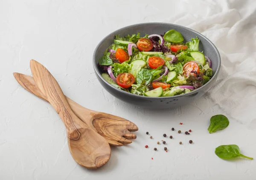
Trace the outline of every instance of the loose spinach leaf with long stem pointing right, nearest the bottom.
<path fill-rule="evenodd" d="M 230 145 L 222 145 L 218 146 L 215 149 L 215 154 L 222 159 L 231 159 L 231 158 L 236 158 L 236 157 L 243 157 L 247 159 L 253 159 L 250 157 L 247 157 L 245 155 L 242 155 L 240 153 L 239 146 L 235 144 L 230 144 Z"/>

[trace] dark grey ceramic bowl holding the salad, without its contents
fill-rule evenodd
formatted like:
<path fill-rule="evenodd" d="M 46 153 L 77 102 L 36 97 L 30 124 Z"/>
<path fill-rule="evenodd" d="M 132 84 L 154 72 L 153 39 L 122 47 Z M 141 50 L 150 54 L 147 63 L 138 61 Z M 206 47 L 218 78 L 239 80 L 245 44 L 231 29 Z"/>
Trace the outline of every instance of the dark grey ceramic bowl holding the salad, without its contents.
<path fill-rule="evenodd" d="M 146 96 L 138 96 L 131 93 L 127 93 L 125 91 L 119 90 L 116 87 L 113 87 L 109 84 L 105 79 L 102 78 L 101 72 L 97 67 L 99 63 L 100 57 L 103 55 L 103 52 L 113 43 L 113 39 L 115 38 L 115 34 L 120 34 L 120 37 L 125 36 L 127 34 L 137 34 L 139 32 L 141 35 L 147 34 L 163 34 L 164 32 L 169 31 L 170 29 L 174 29 L 179 31 L 183 37 L 184 42 L 191 40 L 191 38 L 198 37 L 200 39 L 199 51 L 204 51 L 204 54 L 208 56 L 212 60 L 212 71 L 213 76 L 207 84 L 198 88 L 197 90 L 193 90 L 192 92 L 178 95 L 178 96 L 170 96 L 170 97 L 146 97 Z M 200 98 L 204 93 L 206 93 L 214 84 L 218 72 L 221 66 L 221 57 L 220 54 L 213 45 L 213 43 L 204 37 L 202 34 L 175 24 L 169 23 L 142 23 L 136 25 L 130 25 L 119 30 L 114 31 L 109 34 L 107 37 L 102 39 L 97 45 L 94 53 L 93 53 L 93 68 L 95 70 L 95 74 L 102 86 L 113 96 L 121 99 L 122 101 L 136 104 L 136 106 L 149 108 L 149 109 L 166 109 L 171 107 L 177 107 L 180 105 L 188 104 L 188 102 L 195 101 L 195 99 Z"/>

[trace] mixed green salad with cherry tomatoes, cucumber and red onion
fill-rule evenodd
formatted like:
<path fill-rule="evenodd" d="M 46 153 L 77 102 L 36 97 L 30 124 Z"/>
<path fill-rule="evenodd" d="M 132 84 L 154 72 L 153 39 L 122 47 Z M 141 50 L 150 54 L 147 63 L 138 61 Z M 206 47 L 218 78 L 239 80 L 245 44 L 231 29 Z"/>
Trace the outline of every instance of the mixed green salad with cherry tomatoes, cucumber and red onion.
<path fill-rule="evenodd" d="M 99 59 L 102 77 L 129 93 L 160 97 L 188 93 L 212 77 L 212 62 L 198 49 L 198 37 L 184 43 L 180 32 L 116 35 Z"/>

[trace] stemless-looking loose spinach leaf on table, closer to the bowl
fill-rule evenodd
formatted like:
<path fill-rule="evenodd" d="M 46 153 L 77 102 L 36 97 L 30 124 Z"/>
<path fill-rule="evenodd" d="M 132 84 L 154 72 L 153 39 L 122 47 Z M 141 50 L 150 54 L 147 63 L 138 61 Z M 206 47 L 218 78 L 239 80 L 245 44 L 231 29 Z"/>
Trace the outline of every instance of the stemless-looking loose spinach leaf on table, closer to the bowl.
<path fill-rule="evenodd" d="M 225 129 L 228 127 L 229 121 L 226 116 L 224 115 L 214 115 L 211 117 L 211 123 L 208 127 L 209 133 L 216 132 L 218 130 Z"/>

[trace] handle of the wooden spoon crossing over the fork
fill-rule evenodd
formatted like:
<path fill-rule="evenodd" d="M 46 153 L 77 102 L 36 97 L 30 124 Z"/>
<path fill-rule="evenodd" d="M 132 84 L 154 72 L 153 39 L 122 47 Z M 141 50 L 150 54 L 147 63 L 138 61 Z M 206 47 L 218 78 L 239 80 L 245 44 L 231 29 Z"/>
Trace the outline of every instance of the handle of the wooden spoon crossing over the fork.
<path fill-rule="evenodd" d="M 47 97 L 49 103 L 64 122 L 68 138 L 74 141 L 79 140 L 81 134 L 76 122 L 80 120 L 71 110 L 58 82 L 39 62 L 31 60 L 30 68 L 39 90 Z"/>

